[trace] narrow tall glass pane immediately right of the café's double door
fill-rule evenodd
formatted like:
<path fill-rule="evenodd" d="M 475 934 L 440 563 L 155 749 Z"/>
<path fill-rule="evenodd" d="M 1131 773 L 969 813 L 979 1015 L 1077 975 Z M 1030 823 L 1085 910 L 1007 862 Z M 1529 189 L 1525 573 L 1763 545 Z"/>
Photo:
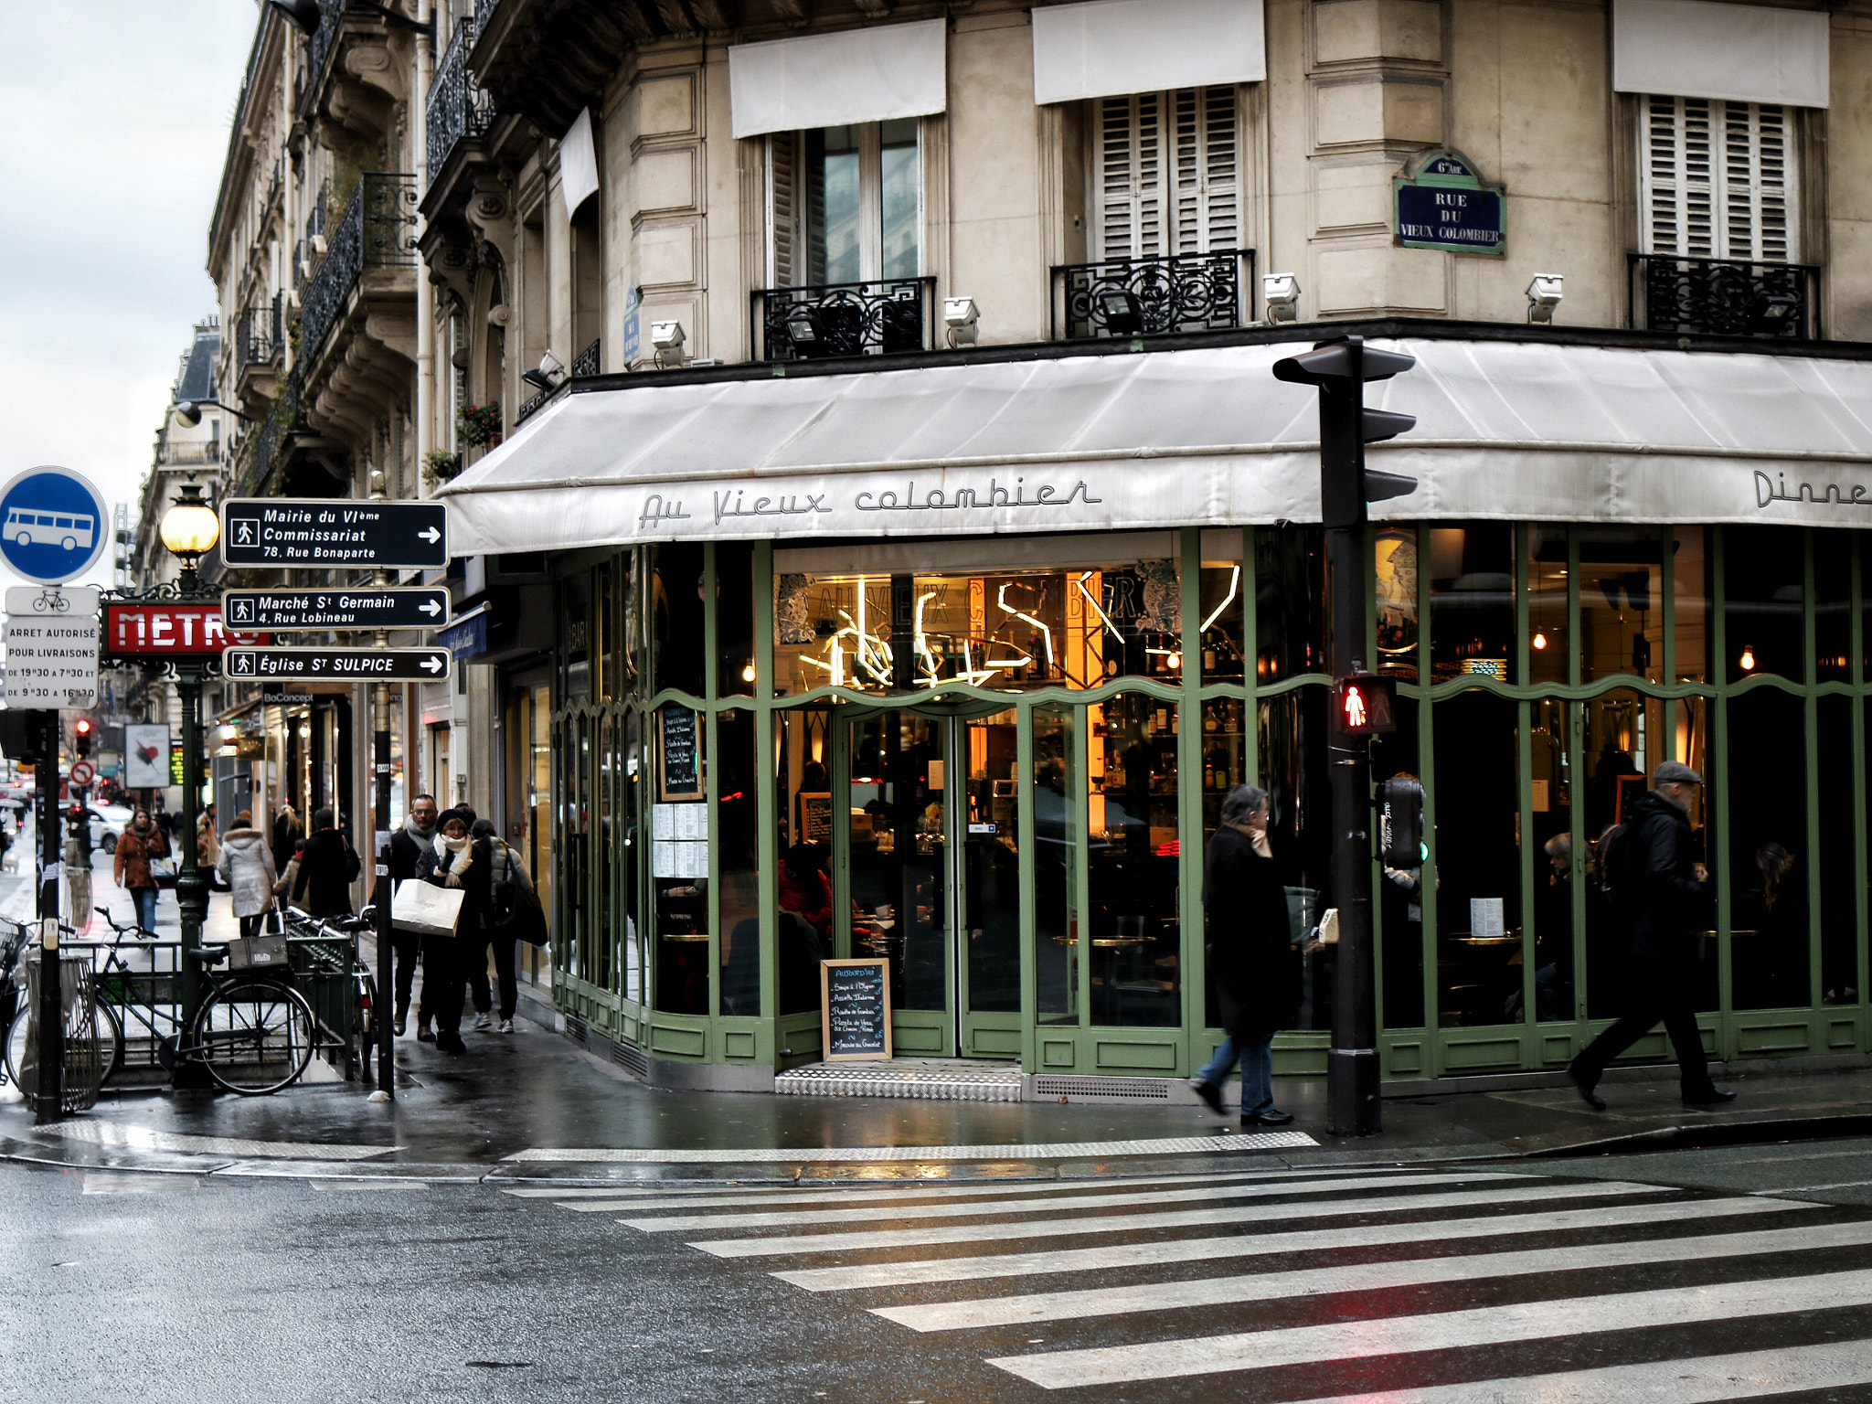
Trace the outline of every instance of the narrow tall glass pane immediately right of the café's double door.
<path fill-rule="evenodd" d="M 1076 708 L 1033 709 L 1033 985 L 1041 1024 L 1078 1024 L 1082 736 Z"/>

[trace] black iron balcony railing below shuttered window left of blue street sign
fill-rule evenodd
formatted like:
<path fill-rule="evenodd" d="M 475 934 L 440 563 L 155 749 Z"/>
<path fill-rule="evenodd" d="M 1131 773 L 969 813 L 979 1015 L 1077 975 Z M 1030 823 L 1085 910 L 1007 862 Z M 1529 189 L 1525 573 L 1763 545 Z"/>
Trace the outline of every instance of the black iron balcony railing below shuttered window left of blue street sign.
<path fill-rule="evenodd" d="M 1054 341 L 1222 331 L 1254 320 L 1254 251 L 1054 268 Z"/>

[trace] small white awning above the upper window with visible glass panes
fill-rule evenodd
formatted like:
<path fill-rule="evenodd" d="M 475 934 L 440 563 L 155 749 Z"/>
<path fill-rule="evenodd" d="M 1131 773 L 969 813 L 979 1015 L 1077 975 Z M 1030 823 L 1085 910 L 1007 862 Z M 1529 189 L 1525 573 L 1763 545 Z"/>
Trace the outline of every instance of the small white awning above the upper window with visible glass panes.
<path fill-rule="evenodd" d="M 947 107 L 949 24 L 927 19 L 728 49 L 736 137 L 927 116 Z"/>

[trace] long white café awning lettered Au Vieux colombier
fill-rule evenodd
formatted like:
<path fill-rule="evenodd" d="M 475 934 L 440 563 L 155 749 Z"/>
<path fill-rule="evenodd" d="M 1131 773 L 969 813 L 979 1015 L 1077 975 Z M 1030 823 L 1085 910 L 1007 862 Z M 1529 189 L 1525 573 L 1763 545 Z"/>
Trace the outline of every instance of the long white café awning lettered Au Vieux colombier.
<path fill-rule="evenodd" d="M 1312 343 L 563 397 L 438 496 L 459 554 L 1318 520 Z M 1400 341 L 1372 517 L 1872 524 L 1872 361 Z"/>

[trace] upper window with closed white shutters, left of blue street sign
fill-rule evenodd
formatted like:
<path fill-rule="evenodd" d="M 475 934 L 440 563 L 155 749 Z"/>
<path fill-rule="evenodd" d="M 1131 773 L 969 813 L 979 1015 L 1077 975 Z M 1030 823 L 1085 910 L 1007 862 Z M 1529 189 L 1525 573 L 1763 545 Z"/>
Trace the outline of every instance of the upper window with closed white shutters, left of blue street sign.
<path fill-rule="evenodd" d="M 1095 260 L 1241 247 L 1234 88 L 1101 97 L 1093 107 Z"/>

